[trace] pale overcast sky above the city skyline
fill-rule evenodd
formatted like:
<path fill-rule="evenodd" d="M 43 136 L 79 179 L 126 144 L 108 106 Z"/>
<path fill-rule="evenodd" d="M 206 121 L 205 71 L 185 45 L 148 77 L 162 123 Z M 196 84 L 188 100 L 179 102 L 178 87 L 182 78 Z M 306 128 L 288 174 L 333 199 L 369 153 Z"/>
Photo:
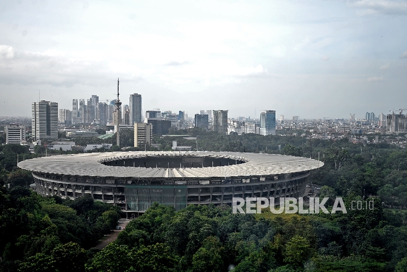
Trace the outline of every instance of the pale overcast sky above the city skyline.
<path fill-rule="evenodd" d="M 407 108 L 407 1 L 0 1 L 0 116 L 142 95 L 230 117 Z"/>

